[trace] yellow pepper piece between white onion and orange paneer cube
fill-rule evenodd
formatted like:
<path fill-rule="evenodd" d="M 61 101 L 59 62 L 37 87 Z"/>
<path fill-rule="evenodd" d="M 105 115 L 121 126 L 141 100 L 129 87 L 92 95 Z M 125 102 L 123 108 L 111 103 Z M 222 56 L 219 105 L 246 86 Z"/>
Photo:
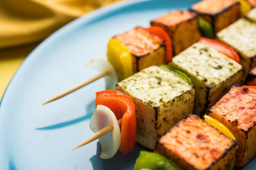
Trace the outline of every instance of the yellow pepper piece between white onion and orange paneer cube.
<path fill-rule="evenodd" d="M 116 39 L 108 41 L 108 61 L 113 65 L 117 73 L 118 81 L 133 74 L 132 56 L 129 50 Z"/>

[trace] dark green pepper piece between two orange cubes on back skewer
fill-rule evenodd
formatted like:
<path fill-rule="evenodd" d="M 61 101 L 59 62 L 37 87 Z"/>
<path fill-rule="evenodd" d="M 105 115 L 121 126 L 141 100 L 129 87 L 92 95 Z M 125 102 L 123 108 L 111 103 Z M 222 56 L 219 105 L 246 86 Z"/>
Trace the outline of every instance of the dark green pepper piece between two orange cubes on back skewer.
<path fill-rule="evenodd" d="M 204 20 L 202 17 L 198 17 L 198 25 L 203 37 L 207 37 L 210 39 L 214 38 L 213 27 L 207 20 Z"/>

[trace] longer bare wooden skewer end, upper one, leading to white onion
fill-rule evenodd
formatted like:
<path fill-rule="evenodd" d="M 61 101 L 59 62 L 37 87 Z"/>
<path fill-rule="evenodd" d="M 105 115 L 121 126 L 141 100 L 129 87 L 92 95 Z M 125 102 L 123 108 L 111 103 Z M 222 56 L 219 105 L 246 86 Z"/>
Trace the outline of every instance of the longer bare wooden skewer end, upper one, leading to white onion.
<path fill-rule="evenodd" d="M 46 103 L 52 102 L 52 101 L 57 100 L 59 98 L 62 98 L 63 96 L 66 96 L 67 94 L 70 94 L 70 93 L 76 91 L 77 89 L 80 89 L 81 87 L 83 87 L 85 85 L 88 85 L 88 84 L 92 83 L 93 81 L 96 81 L 99 78 L 104 77 L 108 74 L 110 74 L 110 70 L 105 70 L 104 72 L 101 72 L 100 74 L 90 78 L 89 80 L 86 80 L 86 81 L 84 81 L 84 82 L 82 82 L 82 83 L 80 83 L 80 84 L 78 84 L 74 87 L 71 87 L 70 89 L 65 90 L 64 92 L 61 92 L 60 94 L 57 94 L 56 96 L 54 96 L 54 97 L 50 98 L 49 100 L 47 100 L 46 102 L 44 102 L 42 105 L 45 105 Z"/>

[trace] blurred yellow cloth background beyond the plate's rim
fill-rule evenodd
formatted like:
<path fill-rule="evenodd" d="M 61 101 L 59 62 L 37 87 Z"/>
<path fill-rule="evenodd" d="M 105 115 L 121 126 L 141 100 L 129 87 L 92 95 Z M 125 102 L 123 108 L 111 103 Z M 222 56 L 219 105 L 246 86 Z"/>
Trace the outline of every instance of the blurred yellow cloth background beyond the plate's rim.
<path fill-rule="evenodd" d="M 0 99 L 22 61 L 68 22 L 119 0 L 0 0 Z"/>

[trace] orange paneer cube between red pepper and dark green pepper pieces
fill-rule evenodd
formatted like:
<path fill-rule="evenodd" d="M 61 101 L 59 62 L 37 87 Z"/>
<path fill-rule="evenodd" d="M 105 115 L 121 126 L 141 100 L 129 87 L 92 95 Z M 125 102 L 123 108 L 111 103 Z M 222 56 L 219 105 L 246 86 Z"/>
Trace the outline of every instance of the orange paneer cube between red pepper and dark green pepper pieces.
<path fill-rule="evenodd" d="M 150 23 L 152 26 L 163 28 L 168 33 L 172 40 L 174 56 L 200 38 L 197 16 L 189 11 L 173 11 Z"/>

